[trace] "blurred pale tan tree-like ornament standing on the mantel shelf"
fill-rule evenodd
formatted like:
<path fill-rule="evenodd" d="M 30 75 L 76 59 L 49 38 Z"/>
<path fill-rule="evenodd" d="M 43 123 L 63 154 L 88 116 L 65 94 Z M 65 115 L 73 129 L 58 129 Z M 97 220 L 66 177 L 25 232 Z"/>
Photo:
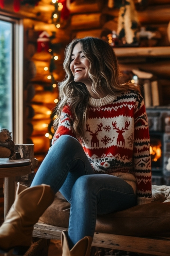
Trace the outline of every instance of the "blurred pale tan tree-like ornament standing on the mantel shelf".
<path fill-rule="evenodd" d="M 133 0 L 122 0 L 122 5 L 119 9 L 117 33 L 119 38 L 125 39 L 124 43 L 135 43 L 138 23 Z"/>

